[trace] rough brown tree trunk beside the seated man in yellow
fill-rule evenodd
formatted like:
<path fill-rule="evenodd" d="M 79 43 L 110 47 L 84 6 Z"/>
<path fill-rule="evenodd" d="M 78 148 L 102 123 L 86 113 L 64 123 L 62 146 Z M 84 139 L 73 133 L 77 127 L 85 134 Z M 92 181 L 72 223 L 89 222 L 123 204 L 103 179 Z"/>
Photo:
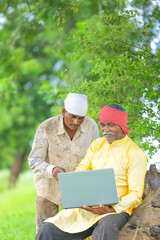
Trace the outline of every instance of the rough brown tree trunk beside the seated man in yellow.
<path fill-rule="evenodd" d="M 145 177 L 142 204 L 133 212 L 129 222 L 119 232 L 118 240 L 160 239 L 160 172 L 155 164 Z"/>

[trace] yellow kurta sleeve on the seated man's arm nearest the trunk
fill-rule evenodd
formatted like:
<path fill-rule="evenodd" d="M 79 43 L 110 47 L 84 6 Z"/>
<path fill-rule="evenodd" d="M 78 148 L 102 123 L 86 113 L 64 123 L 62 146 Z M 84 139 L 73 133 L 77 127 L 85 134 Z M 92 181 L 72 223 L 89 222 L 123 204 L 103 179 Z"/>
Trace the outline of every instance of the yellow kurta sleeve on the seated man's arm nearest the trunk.
<path fill-rule="evenodd" d="M 142 151 L 132 151 L 128 159 L 128 194 L 113 206 L 117 213 L 136 207 L 142 200 L 147 159 Z M 128 212 L 128 211 L 127 211 Z"/>

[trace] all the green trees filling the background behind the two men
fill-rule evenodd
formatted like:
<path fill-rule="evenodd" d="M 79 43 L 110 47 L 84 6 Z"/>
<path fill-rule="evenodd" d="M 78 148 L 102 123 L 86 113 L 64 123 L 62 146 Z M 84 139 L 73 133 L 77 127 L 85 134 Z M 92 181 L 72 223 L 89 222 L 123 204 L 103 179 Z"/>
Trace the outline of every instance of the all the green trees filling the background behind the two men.
<path fill-rule="evenodd" d="M 131 138 L 153 155 L 160 142 L 160 2 L 1 0 L 0 168 L 28 168 L 35 131 L 61 113 L 70 91 L 129 113 Z"/>

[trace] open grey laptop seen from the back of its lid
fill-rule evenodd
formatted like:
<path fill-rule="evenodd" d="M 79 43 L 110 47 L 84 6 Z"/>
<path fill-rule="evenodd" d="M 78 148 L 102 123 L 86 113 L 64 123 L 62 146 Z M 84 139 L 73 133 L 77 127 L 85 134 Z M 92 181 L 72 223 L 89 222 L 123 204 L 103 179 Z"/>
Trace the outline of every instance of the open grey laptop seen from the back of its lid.
<path fill-rule="evenodd" d="M 113 168 L 58 174 L 63 208 L 118 203 Z"/>

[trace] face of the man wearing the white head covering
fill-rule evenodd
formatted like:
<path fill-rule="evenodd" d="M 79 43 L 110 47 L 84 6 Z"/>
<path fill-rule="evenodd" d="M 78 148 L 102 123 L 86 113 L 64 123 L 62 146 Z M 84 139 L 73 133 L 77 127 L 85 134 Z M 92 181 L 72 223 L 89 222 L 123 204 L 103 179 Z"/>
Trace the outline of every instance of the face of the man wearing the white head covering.
<path fill-rule="evenodd" d="M 72 131 L 76 131 L 77 128 L 83 123 L 83 116 L 78 116 L 66 111 L 65 108 L 62 108 L 62 115 L 64 118 L 64 126 L 66 129 L 70 129 Z"/>

